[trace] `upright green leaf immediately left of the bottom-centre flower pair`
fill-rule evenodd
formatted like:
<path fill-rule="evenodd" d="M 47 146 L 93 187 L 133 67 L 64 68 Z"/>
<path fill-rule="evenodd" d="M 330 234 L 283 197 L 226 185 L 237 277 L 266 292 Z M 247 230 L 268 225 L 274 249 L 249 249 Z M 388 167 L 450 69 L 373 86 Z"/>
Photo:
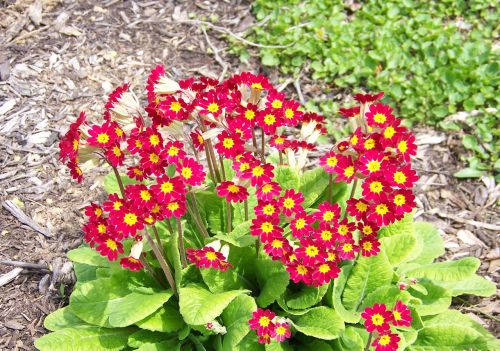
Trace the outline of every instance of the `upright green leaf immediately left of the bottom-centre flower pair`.
<path fill-rule="evenodd" d="M 221 351 L 233 351 L 250 332 L 248 321 L 257 310 L 255 300 L 247 295 L 236 297 L 222 312 L 222 321 L 227 329 Z"/>

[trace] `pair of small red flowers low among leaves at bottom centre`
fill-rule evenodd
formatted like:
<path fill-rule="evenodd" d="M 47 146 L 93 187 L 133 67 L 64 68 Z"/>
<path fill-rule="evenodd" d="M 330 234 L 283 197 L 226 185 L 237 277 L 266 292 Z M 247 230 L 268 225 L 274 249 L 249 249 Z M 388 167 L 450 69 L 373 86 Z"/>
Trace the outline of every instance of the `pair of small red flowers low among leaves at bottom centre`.
<path fill-rule="evenodd" d="M 271 310 L 258 308 L 248 324 L 251 330 L 255 330 L 261 344 L 269 344 L 271 339 L 283 342 L 291 336 L 290 324 L 284 318 L 278 318 Z"/>

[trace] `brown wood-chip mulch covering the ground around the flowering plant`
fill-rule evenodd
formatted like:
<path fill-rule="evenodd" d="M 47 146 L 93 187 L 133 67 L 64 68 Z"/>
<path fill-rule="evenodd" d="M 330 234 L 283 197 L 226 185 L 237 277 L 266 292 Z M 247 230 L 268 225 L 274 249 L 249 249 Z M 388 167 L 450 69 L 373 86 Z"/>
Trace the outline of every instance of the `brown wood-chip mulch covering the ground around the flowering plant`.
<path fill-rule="evenodd" d="M 102 173 L 90 172 L 75 186 L 57 160 L 58 138 L 78 111 L 98 118 L 113 87 L 128 81 L 142 89 L 158 63 L 176 78 L 219 77 L 226 64 L 230 71 L 256 71 L 255 56 L 240 64 L 227 54 L 220 31 L 207 27 L 207 40 L 199 24 L 186 21 L 212 21 L 236 34 L 255 23 L 245 1 L 111 0 L 94 5 L 44 0 L 41 13 L 36 7 L 30 10 L 32 3 L 0 1 L 0 200 L 13 201 L 51 236 L 35 232 L 2 208 L 0 260 L 54 268 L 81 243 L 82 209 L 102 194 Z M 281 83 L 275 71 L 266 73 Z M 318 87 L 306 76 L 302 91 L 307 99 Z M 287 91 L 297 97 L 291 84 Z M 448 257 L 479 257 L 480 273 L 498 282 L 496 233 L 484 228 L 498 221 L 498 186 L 451 176 L 463 167 L 459 135 L 416 132 L 421 143 L 417 216 L 442 230 Z M 13 269 L 0 264 L 0 274 Z M 33 350 L 33 340 L 45 332 L 44 317 L 67 302 L 71 285 L 71 276 L 23 269 L 0 287 L 0 350 Z M 496 296 L 463 301 L 456 301 L 463 311 L 493 332 L 499 330 L 489 317 L 500 312 Z"/>

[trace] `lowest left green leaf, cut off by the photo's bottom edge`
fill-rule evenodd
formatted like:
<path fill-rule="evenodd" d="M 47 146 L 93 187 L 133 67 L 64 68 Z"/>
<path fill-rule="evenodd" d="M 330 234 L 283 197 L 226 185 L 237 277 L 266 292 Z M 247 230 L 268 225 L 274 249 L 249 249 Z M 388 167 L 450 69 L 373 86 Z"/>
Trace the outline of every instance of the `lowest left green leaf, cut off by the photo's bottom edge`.
<path fill-rule="evenodd" d="M 40 351 L 118 351 L 127 346 L 134 328 L 76 327 L 58 330 L 35 340 Z"/>

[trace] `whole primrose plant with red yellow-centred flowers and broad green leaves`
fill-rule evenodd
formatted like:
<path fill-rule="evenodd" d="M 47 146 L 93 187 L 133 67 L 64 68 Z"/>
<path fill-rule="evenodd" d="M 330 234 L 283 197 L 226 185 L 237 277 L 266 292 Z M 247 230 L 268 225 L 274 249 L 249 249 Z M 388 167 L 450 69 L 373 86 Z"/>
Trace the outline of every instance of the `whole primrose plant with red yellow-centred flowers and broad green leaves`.
<path fill-rule="evenodd" d="M 449 310 L 495 293 L 474 258 L 434 263 L 439 233 L 414 223 L 415 138 L 383 93 L 341 109 L 352 135 L 315 145 L 324 119 L 267 78 L 149 75 L 101 120 L 82 112 L 60 141 L 77 182 L 102 166 L 85 208 L 69 305 L 38 349 L 489 350 Z M 323 151 L 321 151 L 323 150 Z"/>

